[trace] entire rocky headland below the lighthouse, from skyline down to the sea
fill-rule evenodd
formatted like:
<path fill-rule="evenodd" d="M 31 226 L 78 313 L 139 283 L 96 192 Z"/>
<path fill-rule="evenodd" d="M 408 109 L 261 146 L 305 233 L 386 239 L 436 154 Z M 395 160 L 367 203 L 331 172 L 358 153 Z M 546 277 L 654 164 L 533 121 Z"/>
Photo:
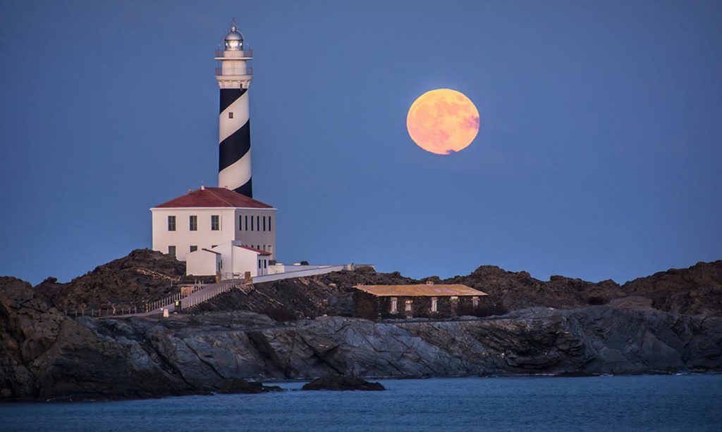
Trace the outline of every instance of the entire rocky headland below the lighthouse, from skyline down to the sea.
<path fill-rule="evenodd" d="M 370 269 L 257 284 L 170 318 L 67 316 L 133 305 L 183 282 L 134 251 L 67 284 L 0 278 L 0 400 L 262 392 L 344 377 L 722 371 L 722 261 L 619 285 L 479 267 L 438 282 L 490 294 L 480 317 L 352 318 L 352 286 L 417 282 Z M 422 279 L 426 280 L 426 279 Z"/>

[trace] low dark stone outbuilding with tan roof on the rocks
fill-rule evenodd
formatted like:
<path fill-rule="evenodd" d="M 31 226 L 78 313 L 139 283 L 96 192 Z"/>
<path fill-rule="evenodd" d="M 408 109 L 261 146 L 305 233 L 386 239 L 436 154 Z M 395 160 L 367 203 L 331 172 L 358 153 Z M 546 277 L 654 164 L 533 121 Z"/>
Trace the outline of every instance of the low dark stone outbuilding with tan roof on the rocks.
<path fill-rule="evenodd" d="M 387 318 L 456 318 L 475 315 L 487 293 L 461 284 L 357 285 L 354 315 Z"/>

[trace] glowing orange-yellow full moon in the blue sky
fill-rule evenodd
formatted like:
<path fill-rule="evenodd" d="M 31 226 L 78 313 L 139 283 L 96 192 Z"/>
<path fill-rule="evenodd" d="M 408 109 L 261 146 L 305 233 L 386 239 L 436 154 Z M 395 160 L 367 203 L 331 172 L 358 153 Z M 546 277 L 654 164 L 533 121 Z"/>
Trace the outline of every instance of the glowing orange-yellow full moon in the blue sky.
<path fill-rule="evenodd" d="M 477 138 L 479 111 L 463 93 L 451 89 L 427 91 L 414 101 L 406 129 L 420 148 L 438 155 L 464 150 Z"/>

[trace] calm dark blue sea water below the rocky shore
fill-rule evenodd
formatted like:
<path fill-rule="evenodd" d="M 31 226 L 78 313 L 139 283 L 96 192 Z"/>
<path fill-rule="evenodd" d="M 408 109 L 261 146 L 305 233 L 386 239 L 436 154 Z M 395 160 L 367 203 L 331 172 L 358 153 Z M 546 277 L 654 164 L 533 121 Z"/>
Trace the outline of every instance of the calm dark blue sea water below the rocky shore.
<path fill-rule="evenodd" d="M 722 431 L 722 374 L 384 380 L 287 392 L 0 405 L 4 431 Z"/>

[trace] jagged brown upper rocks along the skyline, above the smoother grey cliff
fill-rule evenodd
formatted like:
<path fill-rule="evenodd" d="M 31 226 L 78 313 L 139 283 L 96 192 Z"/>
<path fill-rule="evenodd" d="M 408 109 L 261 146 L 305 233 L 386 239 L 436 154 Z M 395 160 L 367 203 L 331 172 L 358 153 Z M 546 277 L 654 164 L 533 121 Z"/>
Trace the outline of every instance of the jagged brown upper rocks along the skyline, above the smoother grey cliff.
<path fill-rule="evenodd" d="M 46 279 L 38 292 L 58 310 L 86 307 L 129 307 L 159 300 L 178 291 L 178 284 L 193 282 L 183 276 L 185 264 L 160 252 L 139 249 L 129 256 L 98 266 L 66 284 Z M 230 292 L 199 308 L 201 312 L 248 310 L 277 320 L 323 315 L 351 316 L 352 292 L 357 284 L 412 284 L 424 281 L 466 284 L 490 294 L 486 315 L 499 315 L 529 307 L 585 307 L 604 305 L 624 297 L 644 297 L 651 307 L 685 315 L 722 315 L 722 260 L 698 263 L 688 269 L 670 269 L 619 285 L 612 280 L 588 282 L 565 276 L 549 281 L 526 271 L 505 271 L 481 266 L 465 276 L 412 279 L 372 269 L 339 271 L 319 276 L 256 284 L 251 294 Z"/>

